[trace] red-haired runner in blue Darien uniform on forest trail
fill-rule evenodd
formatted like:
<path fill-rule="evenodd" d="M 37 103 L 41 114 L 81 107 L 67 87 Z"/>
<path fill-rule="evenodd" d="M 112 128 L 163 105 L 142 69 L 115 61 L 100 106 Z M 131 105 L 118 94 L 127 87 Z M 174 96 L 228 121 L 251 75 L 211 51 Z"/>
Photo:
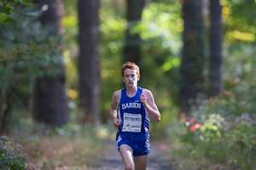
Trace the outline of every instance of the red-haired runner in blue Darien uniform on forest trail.
<path fill-rule="evenodd" d="M 160 112 L 150 90 L 137 86 L 139 67 L 126 62 L 122 69 L 125 88 L 113 93 L 109 114 L 118 127 L 116 144 L 125 170 L 145 170 L 150 149 L 149 117 L 160 122 Z"/>

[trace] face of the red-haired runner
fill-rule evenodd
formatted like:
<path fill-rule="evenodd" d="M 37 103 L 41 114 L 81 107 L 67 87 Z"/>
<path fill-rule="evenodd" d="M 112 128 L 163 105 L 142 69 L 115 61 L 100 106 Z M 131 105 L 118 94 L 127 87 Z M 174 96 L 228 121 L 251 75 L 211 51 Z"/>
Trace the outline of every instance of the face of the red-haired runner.
<path fill-rule="evenodd" d="M 125 82 L 126 88 L 136 88 L 137 81 L 139 77 L 137 76 L 137 71 L 134 69 L 125 69 L 123 82 Z"/>

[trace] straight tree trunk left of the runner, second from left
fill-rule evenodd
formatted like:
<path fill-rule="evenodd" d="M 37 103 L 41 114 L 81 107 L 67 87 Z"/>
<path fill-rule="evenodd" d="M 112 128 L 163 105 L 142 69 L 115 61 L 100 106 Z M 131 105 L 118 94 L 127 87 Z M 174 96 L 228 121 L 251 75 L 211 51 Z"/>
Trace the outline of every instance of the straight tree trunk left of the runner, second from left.
<path fill-rule="evenodd" d="M 99 0 L 79 0 L 79 99 L 84 122 L 99 123 L 100 61 Z"/>

